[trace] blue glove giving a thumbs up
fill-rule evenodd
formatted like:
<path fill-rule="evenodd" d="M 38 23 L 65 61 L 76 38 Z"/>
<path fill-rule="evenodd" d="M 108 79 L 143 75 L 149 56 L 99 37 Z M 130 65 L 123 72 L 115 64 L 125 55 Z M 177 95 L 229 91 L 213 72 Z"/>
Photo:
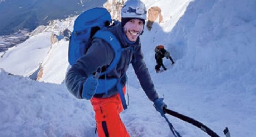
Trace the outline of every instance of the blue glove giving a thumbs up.
<path fill-rule="evenodd" d="M 82 97 L 84 99 L 90 100 L 95 94 L 98 85 L 98 79 L 94 78 L 93 76 L 88 77 L 87 80 L 83 83 Z"/>

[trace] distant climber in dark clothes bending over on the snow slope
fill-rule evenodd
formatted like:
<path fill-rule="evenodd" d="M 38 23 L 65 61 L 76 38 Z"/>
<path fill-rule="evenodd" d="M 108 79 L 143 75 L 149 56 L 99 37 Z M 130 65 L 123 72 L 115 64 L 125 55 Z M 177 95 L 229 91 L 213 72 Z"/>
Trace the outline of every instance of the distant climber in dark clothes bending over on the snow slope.
<path fill-rule="evenodd" d="M 164 70 L 167 70 L 167 68 L 163 64 L 163 59 L 166 57 L 167 59 L 170 59 L 172 62 L 172 65 L 174 64 L 174 61 L 172 57 L 170 56 L 170 53 L 164 49 L 163 45 L 158 45 L 155 47 L 155 60 L 156 60 L 156 66 L 155 71 L 159 72 L 160 68 L 163 67 Z"/>

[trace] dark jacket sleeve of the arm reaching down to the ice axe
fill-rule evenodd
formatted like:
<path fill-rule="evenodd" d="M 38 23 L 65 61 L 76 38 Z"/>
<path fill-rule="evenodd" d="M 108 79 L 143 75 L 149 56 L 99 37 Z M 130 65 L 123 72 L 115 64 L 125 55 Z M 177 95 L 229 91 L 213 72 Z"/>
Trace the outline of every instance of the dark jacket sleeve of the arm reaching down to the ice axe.
<path fill-rule="evenodd" d="M 137 75 L 137 78 L 140 81 L 140 85 L 148 98 L 153 101 L 156 98 L 158 98 L 158 94 L 155 90 L 154 84 L 151 80 L 148 68 L 146 67 L 146 64 L 143 59 L 143 53 L 141 51 L 141 46 L 139 45 L 135 49 L 135 56 L 132 61 L 132 67 L 134 69 L 135 74 Z"/>

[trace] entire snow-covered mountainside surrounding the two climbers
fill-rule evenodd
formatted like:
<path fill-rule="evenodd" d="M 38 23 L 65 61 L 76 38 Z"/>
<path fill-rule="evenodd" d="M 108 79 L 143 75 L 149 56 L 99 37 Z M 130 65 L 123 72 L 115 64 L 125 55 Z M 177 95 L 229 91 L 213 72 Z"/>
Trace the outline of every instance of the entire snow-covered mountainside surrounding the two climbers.
<path fill-rule="evenodd" d="M 256 1 L 142 1 L 151 9 L 141 36 L 144 59 L 168 108 L 201 121 L 222 137 L 226 126 L 232 137 L 255 137 Z M 105 6 L 118 10 L 123 2 L 109 0 Z M 74 98 L 63 83 L 68 41 L 62 34 L 66 28 L 72 31 L 75 18 L 39 26 L 0 58 L 1 137 L 97 136 L 90 102 Z M 164 59 L 168 70 L 163 73 L 154 70 L 158 44 L 175 61 L 171 66 Z M 38 72 L 38 81 L 27 78 Z M 130 105 L 121 118 L 130 136 L 173 137 L 132 67 L 127 75 Z M 208 137 L 197 127 L 168 118 L 183 137 Z"/>

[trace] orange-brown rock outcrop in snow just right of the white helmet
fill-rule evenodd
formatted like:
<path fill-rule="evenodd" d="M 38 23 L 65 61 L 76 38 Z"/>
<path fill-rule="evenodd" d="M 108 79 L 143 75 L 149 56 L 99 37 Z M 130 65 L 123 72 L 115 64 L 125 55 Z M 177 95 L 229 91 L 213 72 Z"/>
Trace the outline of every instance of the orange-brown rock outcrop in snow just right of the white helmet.
<path fill-rule="evenodd" d="M 161 14 L 161 9 L 159 7 L 151 7 L 148 10 L 148 22 L 147 22 L 147 28 L 150 31 L 152 28 L 153 23 L 155 20 L 159 17 L 158 23 L 163 22 L 163 16 Z"/>

